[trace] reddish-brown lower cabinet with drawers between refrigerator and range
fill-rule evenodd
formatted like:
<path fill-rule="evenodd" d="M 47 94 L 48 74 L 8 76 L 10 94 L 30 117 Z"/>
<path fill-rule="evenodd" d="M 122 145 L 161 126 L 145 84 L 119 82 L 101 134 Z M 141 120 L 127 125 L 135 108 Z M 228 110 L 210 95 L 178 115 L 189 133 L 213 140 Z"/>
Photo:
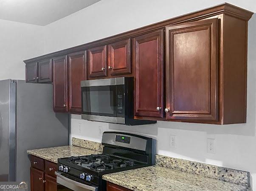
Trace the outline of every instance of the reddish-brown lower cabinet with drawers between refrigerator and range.
<path fill-rule="evenodd" d="M 57 191 L 56 175 L 57 164 L 48 160 L 30 155 L 31 191 Z"/>

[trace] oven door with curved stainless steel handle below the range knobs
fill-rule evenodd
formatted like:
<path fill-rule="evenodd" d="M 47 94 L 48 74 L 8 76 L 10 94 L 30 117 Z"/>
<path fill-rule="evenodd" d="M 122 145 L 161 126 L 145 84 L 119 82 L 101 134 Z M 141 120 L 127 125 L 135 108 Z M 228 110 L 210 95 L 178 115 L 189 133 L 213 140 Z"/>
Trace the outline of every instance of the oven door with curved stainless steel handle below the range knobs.
<path fill-rule="evenodd" d="M 90 183 L 80 183 L 71 176 L 55 171 L 57 179 L 57 191 L 98 191 L 98 186 Z"/>

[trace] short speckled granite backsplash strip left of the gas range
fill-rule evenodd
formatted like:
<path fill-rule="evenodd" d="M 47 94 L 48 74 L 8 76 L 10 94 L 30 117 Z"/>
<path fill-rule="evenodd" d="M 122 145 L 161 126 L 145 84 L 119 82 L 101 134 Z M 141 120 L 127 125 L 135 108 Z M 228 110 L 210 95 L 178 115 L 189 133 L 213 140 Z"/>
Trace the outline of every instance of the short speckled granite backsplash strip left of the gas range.
<path fill-rule="evenodd" d="M 72 138 L 72 145 L 80 146 L 83 148 L 100 151 L 100 152 L 103 152 L 103 147 L 104 147 L 103 145 L 101 145 L 101 143 L 94 142 L 91 140 L 79 139 L 79 138 Z"/>

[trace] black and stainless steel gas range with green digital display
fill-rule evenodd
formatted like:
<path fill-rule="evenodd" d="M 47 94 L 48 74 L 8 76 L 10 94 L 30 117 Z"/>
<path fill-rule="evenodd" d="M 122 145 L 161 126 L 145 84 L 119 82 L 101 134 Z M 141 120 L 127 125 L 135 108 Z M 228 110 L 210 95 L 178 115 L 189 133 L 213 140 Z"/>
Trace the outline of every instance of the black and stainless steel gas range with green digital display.
<path fill-rule="evenodd" d="M 104 132 L 102 154 L 58 159 L 58 191 L 106 191 L 103 174 L 155 164 L 155 140 L 125 132 Z"/>

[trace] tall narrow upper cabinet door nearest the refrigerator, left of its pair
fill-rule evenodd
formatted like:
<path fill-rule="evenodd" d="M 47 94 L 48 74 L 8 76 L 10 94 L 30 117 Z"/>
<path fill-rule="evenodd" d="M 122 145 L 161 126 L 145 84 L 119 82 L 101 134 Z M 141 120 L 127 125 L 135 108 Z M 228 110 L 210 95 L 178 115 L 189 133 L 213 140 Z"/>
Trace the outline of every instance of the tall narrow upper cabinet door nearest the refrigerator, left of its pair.
<path fill-rule="evenodd" d="M 53 58 L 53 110 L 68 112 L 67 56 Z"/>

